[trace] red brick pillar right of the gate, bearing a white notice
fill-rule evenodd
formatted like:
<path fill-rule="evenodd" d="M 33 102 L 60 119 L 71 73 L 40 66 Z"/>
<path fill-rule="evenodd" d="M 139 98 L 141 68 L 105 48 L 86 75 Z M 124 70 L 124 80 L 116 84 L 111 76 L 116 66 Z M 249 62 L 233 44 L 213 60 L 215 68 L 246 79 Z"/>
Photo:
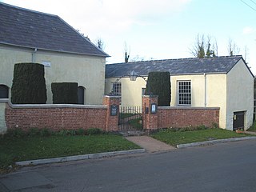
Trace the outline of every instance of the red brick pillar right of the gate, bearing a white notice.
<path fill-rule="evenodd" d="M 158 111 L 152 113 L 151 104 L 158 106 L 158 96 L 142 95 L 142 119 L 144 130 L 158 129 Z"/>

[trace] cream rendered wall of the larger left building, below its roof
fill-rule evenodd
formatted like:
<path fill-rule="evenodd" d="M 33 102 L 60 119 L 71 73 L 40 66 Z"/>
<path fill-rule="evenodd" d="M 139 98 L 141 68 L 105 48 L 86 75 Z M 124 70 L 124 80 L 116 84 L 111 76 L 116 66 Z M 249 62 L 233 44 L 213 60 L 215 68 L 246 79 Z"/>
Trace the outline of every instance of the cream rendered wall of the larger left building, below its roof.
<path fill-rule="evenodd" d="M 14 64 L 32 62 L 33 52 L 32 49 L 0 46 L 0 84 L 11 87 Z M 45 67 L 47 103 L 52 103 L 51 82 L 78 82 L 78 86 L 86 88 L 85 104 L 102 104 L 105 58 L 38 50 L 34 54 L 34 62 L 42 61 L 51 63 L 50 67 Z"/>

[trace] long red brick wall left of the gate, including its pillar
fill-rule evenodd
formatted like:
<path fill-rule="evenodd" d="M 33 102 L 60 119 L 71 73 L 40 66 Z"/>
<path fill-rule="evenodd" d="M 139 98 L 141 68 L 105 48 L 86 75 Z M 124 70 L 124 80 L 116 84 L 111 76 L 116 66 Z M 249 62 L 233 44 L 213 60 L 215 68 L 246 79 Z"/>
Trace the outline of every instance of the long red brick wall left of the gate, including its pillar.
<path fill-rule="evenodd" d="M 110 116 L 110 105 L 113 103 L 119 105 L 118 99 L 106 96 L 103 99 L 103 106 L 12 105 L 10 102 L 6 102 L 6 128 L 19 127 L 23 130 L 30 128 L 117 130 L 118 115 Z"/>

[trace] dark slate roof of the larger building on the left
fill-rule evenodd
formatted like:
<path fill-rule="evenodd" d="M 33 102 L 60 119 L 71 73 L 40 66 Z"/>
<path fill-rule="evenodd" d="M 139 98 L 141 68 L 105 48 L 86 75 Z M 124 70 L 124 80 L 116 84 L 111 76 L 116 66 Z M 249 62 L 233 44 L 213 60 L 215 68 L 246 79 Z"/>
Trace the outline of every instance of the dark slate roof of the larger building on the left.
<path fill-rule="evenodd" d="M 0 44 L 109 57 L 62 18 L 0 2 Z"/>

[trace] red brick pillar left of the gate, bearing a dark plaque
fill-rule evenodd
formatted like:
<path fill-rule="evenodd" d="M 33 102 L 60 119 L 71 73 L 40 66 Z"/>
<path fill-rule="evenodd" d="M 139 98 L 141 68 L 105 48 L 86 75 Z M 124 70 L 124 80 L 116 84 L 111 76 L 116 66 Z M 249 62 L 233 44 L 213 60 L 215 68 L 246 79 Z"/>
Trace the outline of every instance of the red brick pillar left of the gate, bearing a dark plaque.
<path fill-rule="evenodd" d="M 106 110 L 106 131 L 117 131 L 118 130 L 118 115 L 119 115 L 119 105 L 121 102 L 121 98 L 118 96 L 109 96 L 105 95 L 103 97 L 103 106 L 107 106 Z M 113 107 L 117 109 L 117 114 L 111 113 Z"/>

